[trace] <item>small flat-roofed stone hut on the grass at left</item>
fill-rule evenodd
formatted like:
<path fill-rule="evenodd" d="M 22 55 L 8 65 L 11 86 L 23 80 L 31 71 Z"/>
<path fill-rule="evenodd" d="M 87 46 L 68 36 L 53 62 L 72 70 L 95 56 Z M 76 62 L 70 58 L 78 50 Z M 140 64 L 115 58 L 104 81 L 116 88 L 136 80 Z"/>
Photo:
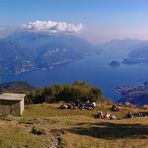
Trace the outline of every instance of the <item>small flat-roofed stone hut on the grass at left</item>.
<path fill-rule="evenodd" d="M 0 95 L 0 115 L 19 116 L 24 111 L 25 94 L 3 93 Z"/>

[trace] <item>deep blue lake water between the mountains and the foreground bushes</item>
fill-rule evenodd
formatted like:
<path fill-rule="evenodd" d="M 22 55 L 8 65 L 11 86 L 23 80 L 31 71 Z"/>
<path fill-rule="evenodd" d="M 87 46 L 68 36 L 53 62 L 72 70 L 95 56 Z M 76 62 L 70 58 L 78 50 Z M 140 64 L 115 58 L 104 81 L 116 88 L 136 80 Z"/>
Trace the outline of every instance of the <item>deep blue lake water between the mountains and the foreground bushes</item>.
<path fill-rule="evenodd" d="M 9 82 L 21 80 L 34 86 L 47 86 L 53 83 L 72 83 L 74 80 L 87 81 L 91 85 L 100 87 L 106 97 L 118 100 L 114 92 L 119 85 L 138 84 L 148 80 L 148 65 L 121 65 L 110 67 L 112 60 L 120 60 L 122 56 L 94 55 L 73 63 L 59 65 L 51 70 L 36 70 L 19 75 L 5 74 L 0 81 Z"/>

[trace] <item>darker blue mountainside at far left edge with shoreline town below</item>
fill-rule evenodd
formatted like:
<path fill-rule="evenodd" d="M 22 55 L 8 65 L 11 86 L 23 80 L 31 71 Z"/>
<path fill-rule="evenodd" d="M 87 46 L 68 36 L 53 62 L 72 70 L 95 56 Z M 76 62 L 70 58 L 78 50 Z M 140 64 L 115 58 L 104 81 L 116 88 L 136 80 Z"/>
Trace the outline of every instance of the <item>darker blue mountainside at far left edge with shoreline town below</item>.
<path fill-rule="evenodd" d="M 27 48 L 0 40 L 0 73 L 19 73 L 33 68 L 33 62 Z"/>

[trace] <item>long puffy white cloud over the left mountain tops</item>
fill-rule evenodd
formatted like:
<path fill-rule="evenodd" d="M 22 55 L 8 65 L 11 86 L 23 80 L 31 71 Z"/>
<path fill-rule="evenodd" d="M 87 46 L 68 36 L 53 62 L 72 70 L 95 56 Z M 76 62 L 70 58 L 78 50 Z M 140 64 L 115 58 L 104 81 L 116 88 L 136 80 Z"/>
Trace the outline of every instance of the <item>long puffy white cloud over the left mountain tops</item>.
<path fill-rule="evenodd" d="M 65 22 L 54 22 L 54 21 L 35 21 L 35 22 L 29 22 L 28 24 L 23 24 L 21 28 L 30 31 L 78 33 L 83 29 L 83 25 L 82 23 L 69 24 Z"/>

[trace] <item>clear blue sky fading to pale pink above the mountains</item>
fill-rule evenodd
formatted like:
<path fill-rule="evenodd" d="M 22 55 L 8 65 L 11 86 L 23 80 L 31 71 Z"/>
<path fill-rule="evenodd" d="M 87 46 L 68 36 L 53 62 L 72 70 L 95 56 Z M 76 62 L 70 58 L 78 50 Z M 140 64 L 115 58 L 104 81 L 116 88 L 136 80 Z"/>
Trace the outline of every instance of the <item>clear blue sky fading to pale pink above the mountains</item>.
<path fill-rule="evenodd" d="M 59 30 L 65 25 L 66 31 L 95 44 L 116 38 L 148 40 L 148 0 L 0 0 L 0 36 L 37 20 L 56 22 Z"/>

